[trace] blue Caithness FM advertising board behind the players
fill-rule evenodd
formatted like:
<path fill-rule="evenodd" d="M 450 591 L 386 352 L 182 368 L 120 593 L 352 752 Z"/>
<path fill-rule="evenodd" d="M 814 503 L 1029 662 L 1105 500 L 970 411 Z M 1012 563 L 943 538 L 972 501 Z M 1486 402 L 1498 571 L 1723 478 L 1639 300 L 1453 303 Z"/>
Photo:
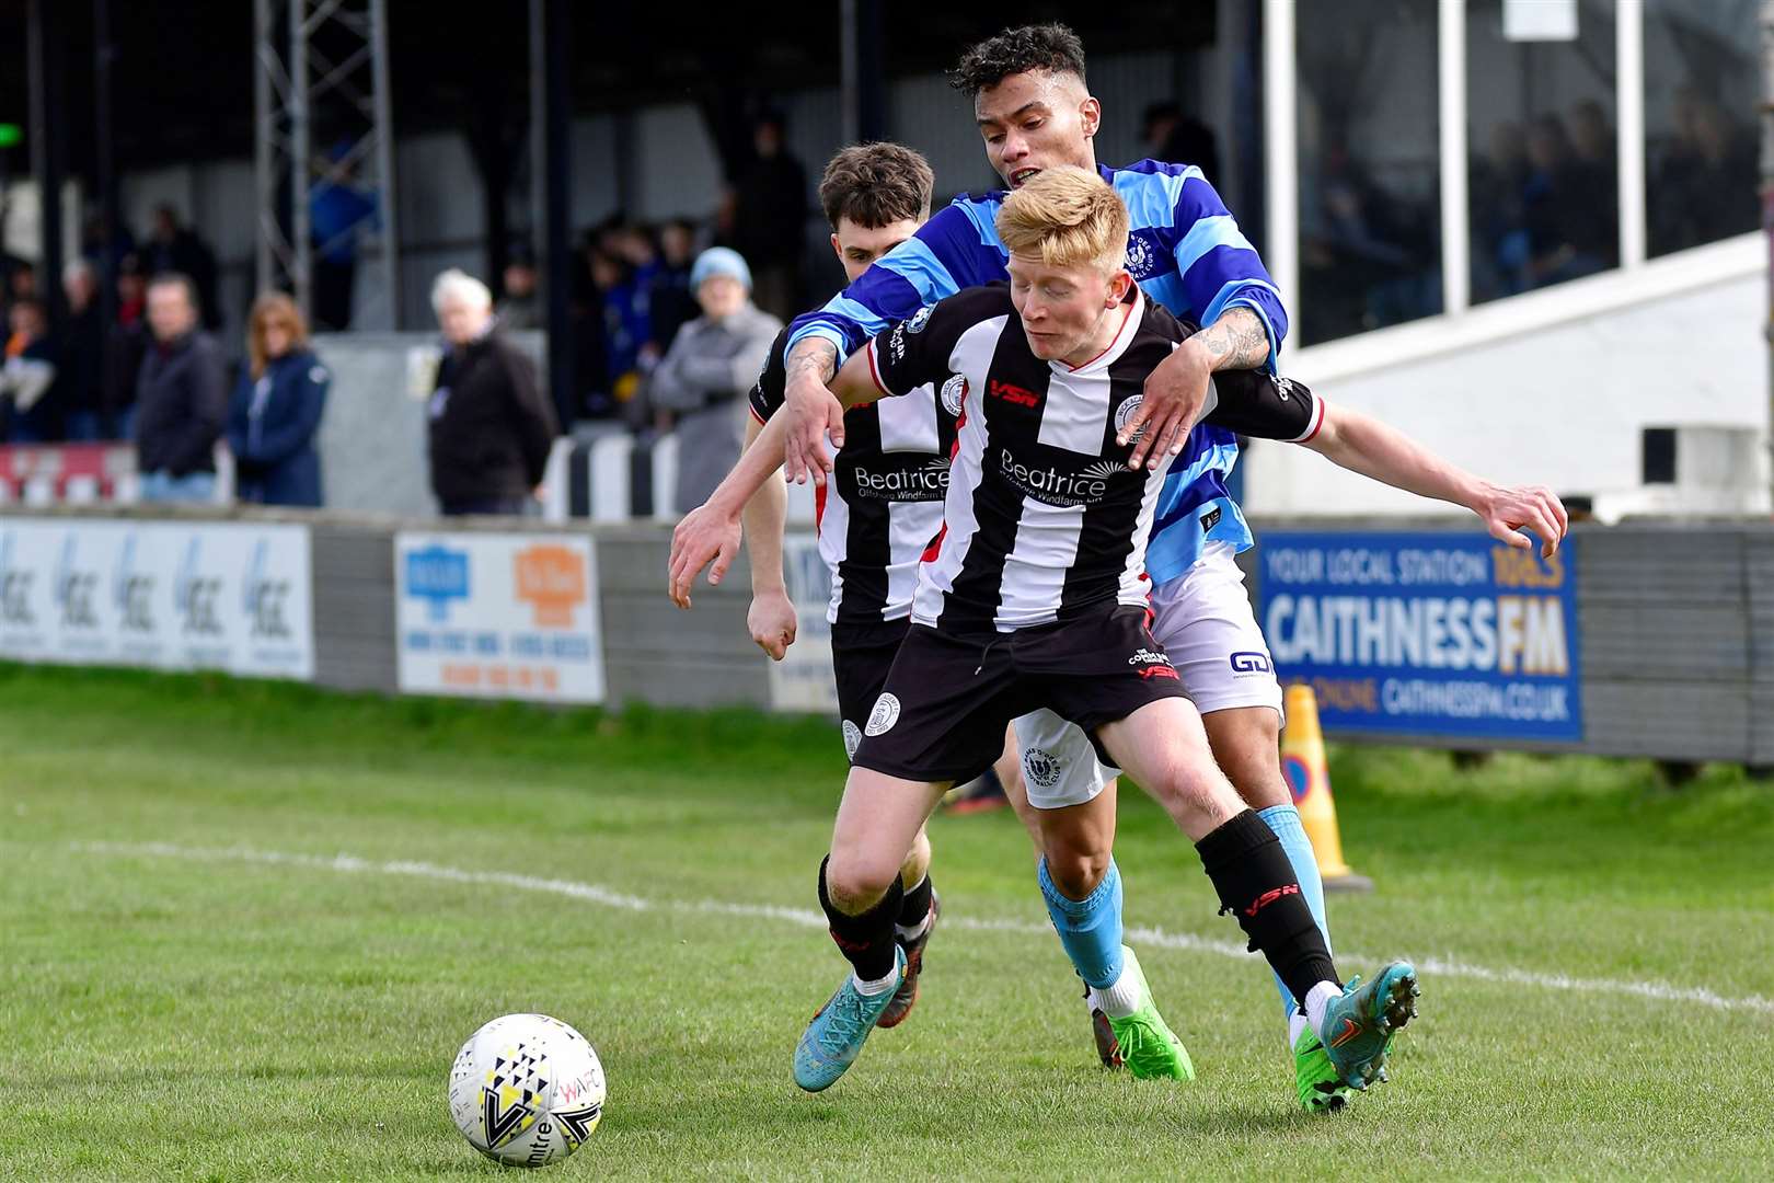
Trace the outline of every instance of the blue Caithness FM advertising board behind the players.
<path fill-rule="evenodd" d="M 1265 532 L 1258 619 L 1325 731 L 1582 740 L 1575 543 Z"/>

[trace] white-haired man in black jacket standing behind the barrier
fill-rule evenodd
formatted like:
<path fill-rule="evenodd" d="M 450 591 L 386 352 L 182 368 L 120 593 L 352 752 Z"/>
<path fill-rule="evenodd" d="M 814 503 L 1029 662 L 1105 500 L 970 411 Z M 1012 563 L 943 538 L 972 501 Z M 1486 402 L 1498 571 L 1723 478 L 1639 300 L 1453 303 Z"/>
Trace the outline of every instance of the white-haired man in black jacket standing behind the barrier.
<path fill-rule="evenodd" d="M 447 346 L 429 404 L 431 491 L 449 516 L 522 514 L 557 435 L 536 365 L 495 332 L 481 280 L 444 271 L 431 307 Z"/>

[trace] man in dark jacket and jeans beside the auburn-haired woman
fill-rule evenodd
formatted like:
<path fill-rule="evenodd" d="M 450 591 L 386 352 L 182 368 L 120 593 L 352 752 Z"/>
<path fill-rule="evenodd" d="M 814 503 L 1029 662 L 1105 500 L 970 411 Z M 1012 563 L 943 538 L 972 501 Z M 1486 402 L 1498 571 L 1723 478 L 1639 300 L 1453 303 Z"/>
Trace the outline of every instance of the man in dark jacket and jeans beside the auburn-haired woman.
<path fill-rule="evenodd" d="M 227 420 L 222 349 L 197 328 L 197 294 L 179 273 L 147 286 L 154 333 L 135 396 L 135 450 L 142 500 L 208 502 L 215 497 L 215 445 Z"/>

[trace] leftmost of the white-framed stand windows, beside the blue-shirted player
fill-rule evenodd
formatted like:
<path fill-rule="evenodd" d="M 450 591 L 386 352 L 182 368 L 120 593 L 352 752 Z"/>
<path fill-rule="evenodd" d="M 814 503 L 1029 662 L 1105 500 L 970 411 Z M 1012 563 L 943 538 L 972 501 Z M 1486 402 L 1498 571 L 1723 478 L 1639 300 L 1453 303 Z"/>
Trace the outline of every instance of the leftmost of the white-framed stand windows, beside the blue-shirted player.
<path fill-rule="evenodd" d="M 1300 342 L 1433 316 L 1437 5 L 1302 4 L 1295 21 Z"/>

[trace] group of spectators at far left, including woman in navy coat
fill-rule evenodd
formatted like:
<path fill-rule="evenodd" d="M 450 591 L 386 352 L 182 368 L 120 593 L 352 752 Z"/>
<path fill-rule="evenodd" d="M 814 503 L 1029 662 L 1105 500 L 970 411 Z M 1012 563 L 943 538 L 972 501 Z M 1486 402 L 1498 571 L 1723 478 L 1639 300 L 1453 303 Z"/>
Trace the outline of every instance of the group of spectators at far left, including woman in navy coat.
<path fill-rule="evenodd" d="M 98 218 L 85 227 L 82 255 L 62 270 L 60 332 L 37 268 L 9 262 L 0 443 L 128 442 L 144 500 L 206 502 L 225 436 L 238 500 L 321 504 L 314 435 L 330 376 L 289 296 L 254 303 L 231 364 L 213 335 L 222 323 L 215 252 L 169 206 L 140 241 Z M 105 271 L 115 277 L 110 321 L 99 298 Z"/>

